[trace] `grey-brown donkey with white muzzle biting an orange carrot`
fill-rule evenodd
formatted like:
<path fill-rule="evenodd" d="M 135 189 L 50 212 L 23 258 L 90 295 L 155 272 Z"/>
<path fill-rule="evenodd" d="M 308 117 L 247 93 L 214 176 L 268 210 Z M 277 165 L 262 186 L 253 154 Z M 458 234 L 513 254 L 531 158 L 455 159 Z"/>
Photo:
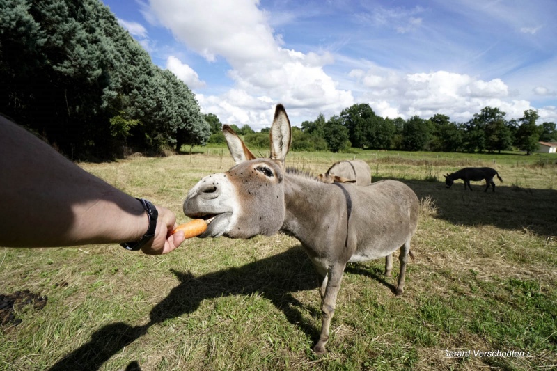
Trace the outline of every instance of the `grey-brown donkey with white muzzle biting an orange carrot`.
<path fill-rule="evenodd" d="M 418 225 L 418 198 L 394 180 L 353 187 L 286 171 L 292 136 L 281 104 L 271 127 L 269 159 L 257 159 L 227 125 L 223 132 L 237 165 L 200 180 L 187 194 L 184 213 L 214 217 L 202 238 L 249 238 L 281 230 L 301 242 L 320 282 L 322 328 L 313 351 L 323 354 L 347 262 L 383 258 L 400 248 L 396 293 L 404 292 L 410 240 Z"/>

